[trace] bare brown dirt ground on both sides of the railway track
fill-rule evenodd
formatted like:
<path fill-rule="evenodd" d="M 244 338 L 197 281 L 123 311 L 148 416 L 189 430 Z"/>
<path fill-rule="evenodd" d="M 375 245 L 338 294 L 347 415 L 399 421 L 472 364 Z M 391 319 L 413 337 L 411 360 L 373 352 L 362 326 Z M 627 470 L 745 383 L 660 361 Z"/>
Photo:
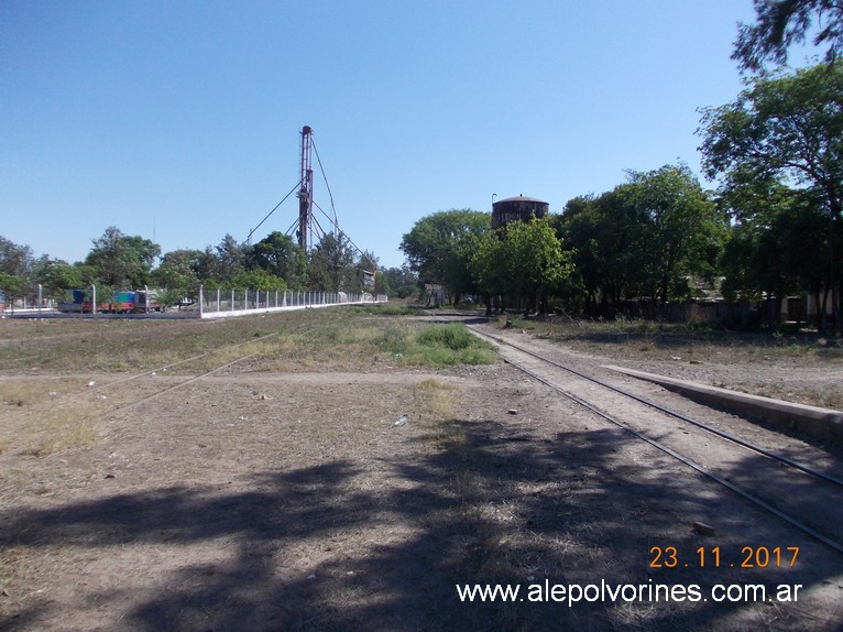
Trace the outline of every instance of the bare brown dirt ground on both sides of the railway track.
<path fill-rule="evenodd" d="M 716 385 L 784 383 L 802 401 L 843 389 L 839 356 L 718 362 L 693 350 L 690 363 L 681 350 L 602 345 L 579 350 Z M 89 447 L 0 453 L 0 630 L 843 629 L 843 556 L 503 362 L 232 367 L 183 386 L 146 377 L 117 394 L 114 374 L 61 378 L 95 382 L 84 403 L 105 394 L 112 412 Z M 652 565 L 654 546 L 683 559 L 722 546 L 737 559 L 741 542 L 801 543 L 802 558 L 748 571 Z M 481 603 L 456 590 L 732 581 L 804 588 L 796 603 L 760 604 Z"/>

